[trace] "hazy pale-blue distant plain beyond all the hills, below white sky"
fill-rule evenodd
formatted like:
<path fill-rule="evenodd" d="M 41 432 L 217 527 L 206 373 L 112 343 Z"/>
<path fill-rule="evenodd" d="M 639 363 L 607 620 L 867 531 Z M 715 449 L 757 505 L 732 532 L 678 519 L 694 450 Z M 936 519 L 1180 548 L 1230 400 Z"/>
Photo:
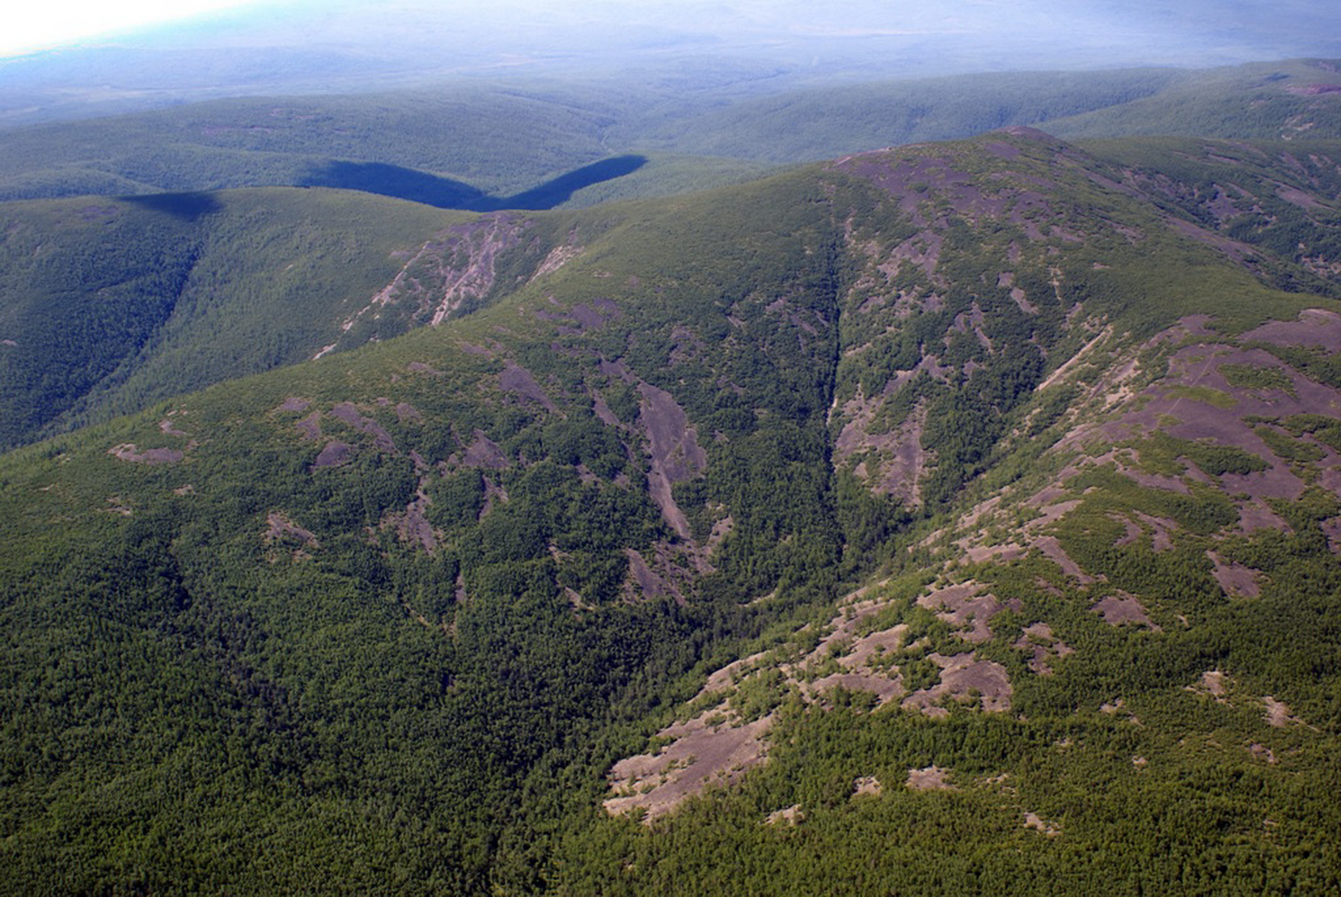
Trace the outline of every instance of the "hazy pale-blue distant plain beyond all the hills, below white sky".
<path fill-rule="evenodd" d="M 594 0 L 581 7 L 263 0 L 156 24 L 134 19 L 143 15 L 134 4 L 123 15 L 131 16 L 127 27 L 113 36 L 0 56 L 0 122 L 479 78 L 636 72 L 668 88 L 756 91 L 967 72 L 1341 58 L 1341 8 L 1307 0 L 1179 7 L 959 0 L 935 8 L 876 0 L 818 8 L 801 0 Z M 11 28 L 11 46 L 16 35 Z"/>

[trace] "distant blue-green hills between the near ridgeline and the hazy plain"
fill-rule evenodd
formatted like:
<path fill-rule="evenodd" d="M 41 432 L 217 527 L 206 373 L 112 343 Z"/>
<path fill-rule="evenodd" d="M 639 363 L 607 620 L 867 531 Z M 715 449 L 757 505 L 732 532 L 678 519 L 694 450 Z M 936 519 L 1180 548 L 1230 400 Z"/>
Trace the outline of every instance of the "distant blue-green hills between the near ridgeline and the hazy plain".
<path fill-rule="evenodd" d="M 776 88 L 636 74 L 233 98 L 5 127 L 0 198 L 335 186 L 440 208 L 550 208 L 744 180 L 768 166 L 1011 125 L 1061 137 L 1338 138 L 1338 63 L 992 72 Z M 586 170 L 611 157 L 633 170 Z M 684 157 L 697 160 L 689 165 Z M 516 204 L 567 177 L 571 194 Z"/>

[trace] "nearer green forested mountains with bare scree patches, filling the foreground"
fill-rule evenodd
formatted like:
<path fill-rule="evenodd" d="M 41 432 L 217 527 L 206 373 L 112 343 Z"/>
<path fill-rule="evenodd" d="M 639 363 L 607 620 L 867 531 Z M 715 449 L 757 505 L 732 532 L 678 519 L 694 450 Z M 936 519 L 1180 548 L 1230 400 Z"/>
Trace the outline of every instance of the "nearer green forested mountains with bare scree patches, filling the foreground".
<path fill-rule="evenodd" d="M 1337 890 L 1338 188 L 1012 127 L 574 211 L 11 204 L 200 296 L 109 283 L 101 389 L 213 385 L 0 456 L 0 877 Z M 261 337 L 308 361 L 228 377 Z"/>

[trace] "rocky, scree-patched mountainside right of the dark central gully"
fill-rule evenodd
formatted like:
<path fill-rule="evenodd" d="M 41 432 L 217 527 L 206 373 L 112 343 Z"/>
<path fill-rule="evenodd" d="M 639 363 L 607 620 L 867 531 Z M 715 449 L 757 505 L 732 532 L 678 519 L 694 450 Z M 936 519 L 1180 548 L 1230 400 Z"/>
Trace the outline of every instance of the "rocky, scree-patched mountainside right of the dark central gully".
<path fill-rule="evenodd" d="M 1341 310 L 1248 276 L 1289 221 L 1218 231 L 1290 197 L 1286 267 L 1334 284 L 1334 192 L 1290 186 L 1334 156 L 1206 154 L 1181 185 L 1037 134 L 838 164 L 902 215 L 848 229 L 874 339 L 843 341 L 835 493 L 944 512 L 611 767 L 569 890 L 1337 886 Z"/>

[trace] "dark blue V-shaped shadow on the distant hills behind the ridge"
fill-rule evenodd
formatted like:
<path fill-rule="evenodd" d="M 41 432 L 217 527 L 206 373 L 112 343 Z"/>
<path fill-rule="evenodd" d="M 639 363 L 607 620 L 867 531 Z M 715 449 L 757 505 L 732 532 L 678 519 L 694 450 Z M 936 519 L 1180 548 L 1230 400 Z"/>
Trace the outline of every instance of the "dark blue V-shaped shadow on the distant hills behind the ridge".
<path fill-rule="evenodd" d="M 646 162 L 644 156 L 616 156 L 583 165 L 514 196 L 487 196 L 464 181 L 381 162 L 329 162 L 314 169 L 298 182 L 298 186 L 363 190 L 397 200 L 422 202 L 439 209 L 463 209 L 465 212 L 543 211 L 567 202 L 574 193 L 585 186 L 632 174 Z"/>

